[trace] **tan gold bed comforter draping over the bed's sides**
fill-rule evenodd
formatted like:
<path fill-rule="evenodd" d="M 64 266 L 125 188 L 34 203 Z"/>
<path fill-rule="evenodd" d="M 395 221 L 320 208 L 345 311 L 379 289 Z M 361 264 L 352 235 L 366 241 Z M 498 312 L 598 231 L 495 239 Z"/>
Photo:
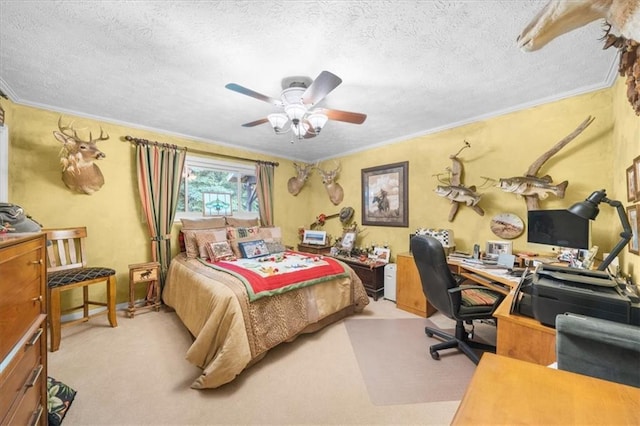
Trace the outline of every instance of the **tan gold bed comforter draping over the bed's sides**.
<path fill-rule="evenodd" d="M 345 267 L 348 277 L 249 302 L 238 278 L 183 253 L 176 256 L 163 299 L 194 336 L 186 358 L 203 371 L 191 387 L 219 387 L 274 346 L 361 312 L 369 298 L 360 278 Z"/>

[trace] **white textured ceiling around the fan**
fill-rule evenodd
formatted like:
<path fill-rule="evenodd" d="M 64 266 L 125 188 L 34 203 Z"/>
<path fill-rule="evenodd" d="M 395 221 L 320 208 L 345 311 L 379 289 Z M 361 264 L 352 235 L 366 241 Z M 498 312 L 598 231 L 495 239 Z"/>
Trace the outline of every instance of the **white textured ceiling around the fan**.
<path fill-rule="evenodd" d="M 602 21 L 523 53 L 546 1 L 0 0 L 0 90 L 20 104 L 316 161 L 609 87 Z M 328 70 L 318 105 L 367 114 L 313 139 L 241 124 L 281 80 Z M 56 123 L 51 123 L 56 126 Z M 135 131 L 132 131 L 135 135 Z M 122 135 L 124 136 L 124 135 Z"/>

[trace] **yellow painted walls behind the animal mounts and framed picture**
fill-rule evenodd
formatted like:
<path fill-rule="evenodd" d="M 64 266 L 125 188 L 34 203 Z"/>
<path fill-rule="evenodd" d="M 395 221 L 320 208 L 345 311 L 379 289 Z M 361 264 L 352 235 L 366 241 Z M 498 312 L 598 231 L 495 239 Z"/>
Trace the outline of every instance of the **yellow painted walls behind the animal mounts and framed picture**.
<path fill-rule="evenodd" d="M 350 206 L 356 211 L 355 221 L 361 223 L 361 169 L 409 161 L 409 227 L 361 226 L 364 232 L 358 244 L 386 241 L 394 256 L 408 250 L 409 234 L 416 228 L 450 228 L 454 230 L 457 247 L 470 250 L 474 243 L 484 247 L 487 240 L 499 239 L 489 229 L 489 221 L 494 215 L 512 212 L 525 220 L 527 210 L 524 200 L 490 186 L 479 190 L 483 193 L 480 206 L 485 210 L 484 216 L 461 207 L 455 220 L 448 222 L 450 205 L 433 189 L 438 184 L 434 175 L 451 165 L 449 155 L 456 153 L 464 140 L 470 142 L 471 148 L 460 155 L 467 186 L 481 185 L 483 176 L 493 179 L 520 176 L 535 159 L 571 133 L 585 118 L 594 116 L 591 126 L 542 167 L 542 174 L 549 174 L 556 183 L 568 180 L 569 187 L 564 199 L 551 196 L 541 201 L 541 207 L 566 208 L 602 188 L 610 198 L 626 202 L 625 169 L 635 156 L 640 155 L 640 120 L 628 105 L 625 92 L 623 84 L 618 82 L 611 89 L 337 158 L 342 170 L 338 182 L 345 192 L 344 201 L 338 206 L 329 201 L 317 172 L 298 196 L 290 195 L 286 182 L 295 173 L 292 162 L 286 159 L 0 100 L 10 130 L 9 201 L 23 206 L 45 227 L 86 225 L 90 263 L 110 265 L 118 271 L 118 302 L 124 302 L 128 297 L 128 265 L 150 260 L 146 225 L 139 207 L 134 149 L 122 140 L 125 135 L 279 161 L 275 179 L 275 220 L 283 228 L 285 243 L 289 245 L 297 242 L 297 228 L 308 228 L 320 213 L 338 213 L 340 208 Z M 95 134 L 102 126 L 111 136 L 108 141 L 99 143 L 107 155 L 98 163 L 106 183 L 93 195 L 74 194 L 62 183 L 60 146 L 52 135 L 60 115 L 64 120 L 75 120 L 74 126 L 78 129 L 86 128 Z M 335 163 L 328 160 L 321 163 L 321 167 L 333 168 Z M 177 229 L 174 227 L 174 243 Z M 329 220 L 325 230 L 334 236 L 342 233 L 338 219 Z M 613 209 L 602 207 L 592 230 L 593 243 L 600 246 L 601 255 L 618 239 L 619 224 Z M 525 235 L 513 242 L 516 250 L 543 250 L 540 246 L 529 247 Z M 633 273 L 638 282 L 638 256 L 626 253 L 625 249 L 620 260 L 623 270 Z"/>

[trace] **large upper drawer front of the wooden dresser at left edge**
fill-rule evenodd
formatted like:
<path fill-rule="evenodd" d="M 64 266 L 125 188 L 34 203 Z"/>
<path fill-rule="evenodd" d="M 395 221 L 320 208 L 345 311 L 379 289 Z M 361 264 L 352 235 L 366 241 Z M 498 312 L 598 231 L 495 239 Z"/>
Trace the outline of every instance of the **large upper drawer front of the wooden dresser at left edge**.
<path fill-rule="evenodd" d="M 42 297 L 44 250 L 40 241 L 2 250 L 0 261 L 0 359 L 4 358 L 29 326 L 46 312 Z"/>

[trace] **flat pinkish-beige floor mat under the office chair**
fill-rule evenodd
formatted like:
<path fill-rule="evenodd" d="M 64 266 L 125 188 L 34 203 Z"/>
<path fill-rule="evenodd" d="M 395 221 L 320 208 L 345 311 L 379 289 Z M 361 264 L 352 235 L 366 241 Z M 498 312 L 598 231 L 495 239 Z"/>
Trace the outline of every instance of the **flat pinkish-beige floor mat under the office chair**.
<path fill-rule="evenodd" d="M 374 405 L 458 401 L 475 364 L 457 350 L 429 354 L 428 319 L 347 319 L 345 326 Z M 451 330 L 449 330 L 451 331 Z"/>

